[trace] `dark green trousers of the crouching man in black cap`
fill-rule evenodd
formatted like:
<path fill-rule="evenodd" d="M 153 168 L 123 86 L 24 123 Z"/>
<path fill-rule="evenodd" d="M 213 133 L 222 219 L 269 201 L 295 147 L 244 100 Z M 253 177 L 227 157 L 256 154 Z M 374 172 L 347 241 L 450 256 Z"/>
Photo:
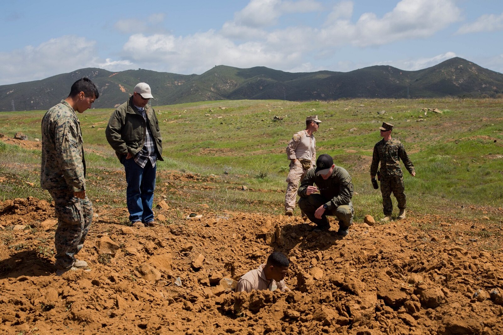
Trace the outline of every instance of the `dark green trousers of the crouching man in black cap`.
<path fill-rule="evenodd" d="M 328 218 L 327 216 L 335 216 L 339 219 L 339 226 L 343 228 L 347 228 L 353 224 L 353 214 L 355 211 L 353 210 L 353 203 L 349 203 L 348 205 L 341 205 L 334 209 L 327 209 L 321 216 L 321 219 L 317 219 L 314 217 L 314 212 L 322 206 L 326 204 L 330 199 L 326 199 L 321 194 L 311 194 L 307 197 L 299 199 L 299 208 L 307 215 L 311 222 L 316 223 L 318 226 L 327 226 Z"/>

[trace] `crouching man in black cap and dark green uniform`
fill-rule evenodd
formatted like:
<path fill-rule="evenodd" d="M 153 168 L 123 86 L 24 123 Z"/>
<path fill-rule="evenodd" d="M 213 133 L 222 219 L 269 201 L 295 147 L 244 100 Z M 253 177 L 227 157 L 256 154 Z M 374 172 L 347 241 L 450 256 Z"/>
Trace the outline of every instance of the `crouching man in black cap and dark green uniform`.
<path fill-rule="evenodd" d="M 326 216 L 336 216 L 339 219 L 337 233 L 341 236 L 348 234 L 354 214 L 351 202 L 353 183 L 343 167 L 333 164 L 330 155 L 324 153 L 318 156 L 316 169 L 307 172 L 297 194 L 300 197 L 299 208 L 316 223 L 318 229 L 330 229 Z"/>

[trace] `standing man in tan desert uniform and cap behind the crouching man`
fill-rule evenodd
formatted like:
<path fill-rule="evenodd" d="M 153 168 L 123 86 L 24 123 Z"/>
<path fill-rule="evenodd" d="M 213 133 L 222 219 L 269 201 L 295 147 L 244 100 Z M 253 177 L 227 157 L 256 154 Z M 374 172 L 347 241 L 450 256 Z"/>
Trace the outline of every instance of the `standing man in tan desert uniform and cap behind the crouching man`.
<path fill-rule="evenodd" d="M 287 158 L 290 159 L 290 172 L 286 178 L 288 183 L 285 195 L 285 214 L 293 215 L 297 189 L 307 171 L 311 169 L 316 160 L 316 140 L 313 133 L 318 130 L 321 123 L 318 116 L 306 118 L 306 129 L 294 134 L 286 147 Z"/>

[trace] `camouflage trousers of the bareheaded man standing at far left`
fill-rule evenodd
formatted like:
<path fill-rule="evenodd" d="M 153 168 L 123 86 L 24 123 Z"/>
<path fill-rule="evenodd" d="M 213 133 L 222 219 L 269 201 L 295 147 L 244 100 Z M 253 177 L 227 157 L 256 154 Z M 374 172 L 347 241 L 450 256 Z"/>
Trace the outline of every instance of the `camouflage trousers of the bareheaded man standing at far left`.
<path fill-rule="evenodd" d="M 93 219 L 93 205 L 88 197 L 79 199 L 69 190 L 50 190 L 58 227 L 54 235 L 56 268 L 66 269 L 75 263 Z"/>

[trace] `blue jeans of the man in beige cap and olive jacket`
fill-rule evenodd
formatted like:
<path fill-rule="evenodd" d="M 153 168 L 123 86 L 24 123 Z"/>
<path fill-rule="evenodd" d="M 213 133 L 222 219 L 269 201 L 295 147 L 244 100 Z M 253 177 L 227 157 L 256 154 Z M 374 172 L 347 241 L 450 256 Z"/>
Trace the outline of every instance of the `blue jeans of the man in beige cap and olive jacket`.
<path fill-rule="evenodd" d="M 150 161 L 142 169 L 134 158 L 122 158 L 126 171 L 126 200 L 129 211 L 129 221 L 149 223 L 154 220 L 152 203 L 154 201 L 155 171 L 157 164 L 152 166 Z"/>

